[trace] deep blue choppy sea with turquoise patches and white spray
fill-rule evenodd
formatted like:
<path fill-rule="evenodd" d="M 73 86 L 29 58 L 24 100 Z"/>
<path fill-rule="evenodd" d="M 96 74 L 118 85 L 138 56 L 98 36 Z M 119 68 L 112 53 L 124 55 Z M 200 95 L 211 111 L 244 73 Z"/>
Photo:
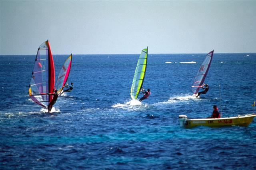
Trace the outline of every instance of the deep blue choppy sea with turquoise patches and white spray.
<path fill-rule="evenodd" d="M 149 53 L 151 95 L 141 103 L 130 97 L 139 53 L 73 55 L 74 89 L 53 113 L 28 95 L 36 55 L 0 55 L 0 169 L 256 169 L 255 118 L 248 127 L 179 125 L 179 115 L 205 118 L 213 105 L 222 117 L 255 112 L 256 53 L 214 53 L 208 93 L 192 96 L 208 52 Z M 68 55 L 54 55 L 56 77 Z"/>

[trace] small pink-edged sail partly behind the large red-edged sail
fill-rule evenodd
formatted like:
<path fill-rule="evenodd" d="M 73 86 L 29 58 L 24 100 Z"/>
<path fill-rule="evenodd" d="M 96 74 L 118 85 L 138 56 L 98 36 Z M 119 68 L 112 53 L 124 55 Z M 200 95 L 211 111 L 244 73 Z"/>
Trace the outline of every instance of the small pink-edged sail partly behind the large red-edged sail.
<path fill-rule="evenodd" d="M 55 87 L 58 90 L 58 92 L 62 91 L 63 86 L 68 81 L 68 75 L 69 75 L 70 68 L 71 68 L 71 62 L 72 62 L 72 54 L 70 54 L 70 56 L 68 56 L 68 58 L 65 60 L 64 64 L 62 65 L 62 67 L 60 69 L 60 73 L 58 75 L 56 87 Z"/>

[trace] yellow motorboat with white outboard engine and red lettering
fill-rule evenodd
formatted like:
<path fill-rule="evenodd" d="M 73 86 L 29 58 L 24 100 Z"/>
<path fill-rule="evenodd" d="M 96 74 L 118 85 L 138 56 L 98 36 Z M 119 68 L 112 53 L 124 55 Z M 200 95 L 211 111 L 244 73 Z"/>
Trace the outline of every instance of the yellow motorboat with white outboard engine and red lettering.
<path fill-rule="evenodd" d="M 235 117 L 222 117 L 210 119 L 188 119 L 186 115 L 179 115 L 179 122 L 181 127 L 192 128 L 196 126 L 207 127 L 223 127 L 223 126 L 241 126 L 247 127 L 256 117 L 256 113 L 248 115 L 238 115 Z"/>

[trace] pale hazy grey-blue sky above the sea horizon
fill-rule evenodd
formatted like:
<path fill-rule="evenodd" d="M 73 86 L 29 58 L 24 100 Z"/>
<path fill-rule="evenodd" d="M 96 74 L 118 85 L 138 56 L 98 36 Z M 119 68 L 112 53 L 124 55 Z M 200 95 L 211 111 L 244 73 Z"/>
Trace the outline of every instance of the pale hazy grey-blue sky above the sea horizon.
<path fill-rule="evenodd" d="M 256 52 L 256 1 L 0 0 L 0 55 Z"/>

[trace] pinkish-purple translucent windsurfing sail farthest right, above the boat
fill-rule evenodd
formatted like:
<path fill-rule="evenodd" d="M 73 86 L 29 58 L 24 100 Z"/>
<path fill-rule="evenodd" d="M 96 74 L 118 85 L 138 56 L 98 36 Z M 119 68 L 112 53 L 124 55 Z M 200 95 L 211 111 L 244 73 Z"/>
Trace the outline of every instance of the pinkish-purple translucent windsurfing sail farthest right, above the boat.
<path fill-rule="evenodd" d="M 213 51 L 214 50 L 212 50 L 210 53 L 206 55 L 206 57 L 204 58 L 204 61 L 202 62 L 202 64 L 199 67 L 199 70 L 196 73 L 196 77 L 191 86 L 191 91 L 194 94 L 196 94 L 199 91 L 201 85 L 204 83 L 204 79 L 208 73 L 208 70 L 212 62 Z"/>

